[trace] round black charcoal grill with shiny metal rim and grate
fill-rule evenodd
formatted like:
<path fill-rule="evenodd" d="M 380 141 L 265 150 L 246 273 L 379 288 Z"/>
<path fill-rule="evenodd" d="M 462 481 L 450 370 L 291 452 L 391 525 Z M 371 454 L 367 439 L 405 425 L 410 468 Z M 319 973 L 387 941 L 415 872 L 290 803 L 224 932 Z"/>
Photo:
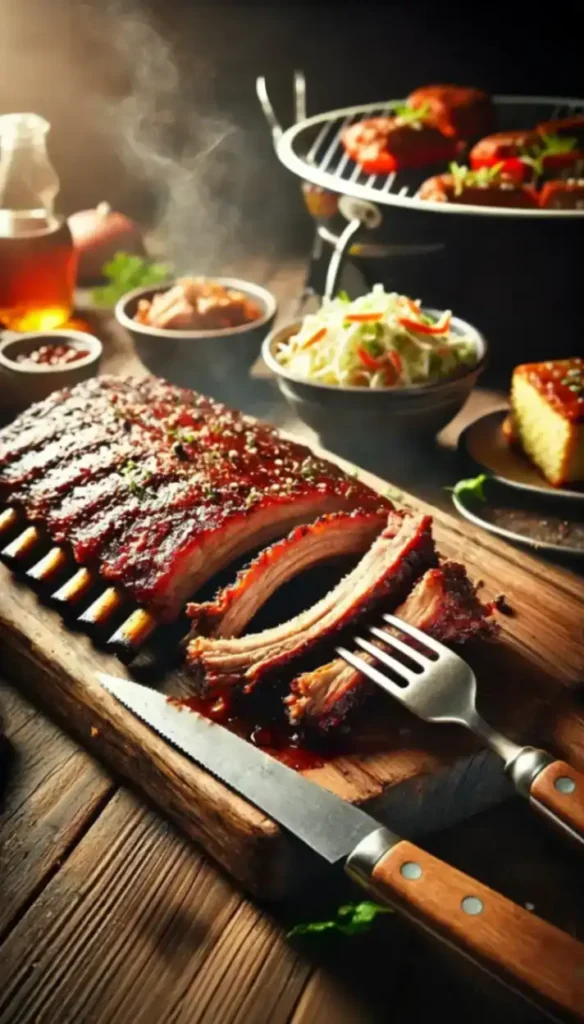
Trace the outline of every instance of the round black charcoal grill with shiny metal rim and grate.
<path fill-rule="evenodd" d="M 341 143 L 346 127 L 366 117 L 390 114 L 405 100 L 306 117 L 305 83 L 298 72 L 295 93 L 301 102 L 296 103 L 296 123 L 285 130 L 264 78 L 257 79 L 256 91 L 281 163 L 314 189 L 337 197 L 336 214 L 320 216 L 311 211 L 312 253 L 323 259 L 327 247 L 332 247 L 333 255 L 317 284 L 312 261 L 304 297 L 310 292 L 332 294 L 349 256 L 367 286 L 383 281 L 392 290 L 439 308 L 453 308 L 474 323 L 489 337 L 496 357 L 490 383 L 503 383 L 504 377 L 506 384 L 508 370 L 524 359 L 574 354 L 569 340 L 574 324 L 584 315 L 579 269 L 584 210 L 420 200 L 422 182 L 444 172 L 444 165 L 368 175 Z M 493 102 L 499 130 L 584 115 L 584 99 L 496 95 Z M 571 174 L 562 172 L 566 177 Z"/>

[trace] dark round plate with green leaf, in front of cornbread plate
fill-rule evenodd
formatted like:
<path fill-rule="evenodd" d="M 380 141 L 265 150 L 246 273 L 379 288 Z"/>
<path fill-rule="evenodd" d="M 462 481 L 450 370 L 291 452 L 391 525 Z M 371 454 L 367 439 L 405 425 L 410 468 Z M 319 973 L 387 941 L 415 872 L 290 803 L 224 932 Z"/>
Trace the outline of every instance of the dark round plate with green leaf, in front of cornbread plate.
<path fill-rule="evenodd" d="M 584 522 L 582 516 L 560 516 L 558 504 L 548 497 L 513 495 L 495 480 L 485 485 L 486 502 L 472 494 L 453 495 L 457 511 L 465 519 L 541 553 L 584 558 Z M 572 507 L 562 509 L 572 513 Z M 576 510 L 575 510 L 576 511 Z"/>

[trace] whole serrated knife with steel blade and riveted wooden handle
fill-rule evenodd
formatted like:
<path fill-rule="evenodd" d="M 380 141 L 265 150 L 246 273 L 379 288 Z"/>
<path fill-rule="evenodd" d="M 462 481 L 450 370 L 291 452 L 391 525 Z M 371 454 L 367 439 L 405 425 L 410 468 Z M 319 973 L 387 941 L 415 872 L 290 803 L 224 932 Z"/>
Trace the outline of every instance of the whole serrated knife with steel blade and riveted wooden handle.
<path fill-rule="evenodd" d="M 380 826 L 197 712 L 98 673 L 117 700 L 329 863 L 474 961 L 552 1020 L 584 1021 L 584 945 L 483 883 Z M 557 1013 L 561 1016 L 558 1017 Z"/>

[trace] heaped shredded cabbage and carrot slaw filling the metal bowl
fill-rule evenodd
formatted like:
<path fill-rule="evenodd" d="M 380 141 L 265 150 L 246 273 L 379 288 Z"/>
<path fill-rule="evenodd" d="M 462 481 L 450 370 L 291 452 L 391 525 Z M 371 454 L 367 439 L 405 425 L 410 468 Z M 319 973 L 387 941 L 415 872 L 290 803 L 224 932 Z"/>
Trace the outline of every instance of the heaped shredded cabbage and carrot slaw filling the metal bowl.
<path fill-rule="evenodd" d="M 352 302 L 341 293 L 304 316 L 276 355 L 295 377 L 322 384 L 408 387 L 448 377 L 476 361 L 473 340 L 451 330 L 452 315 L 374 285 Z"/>

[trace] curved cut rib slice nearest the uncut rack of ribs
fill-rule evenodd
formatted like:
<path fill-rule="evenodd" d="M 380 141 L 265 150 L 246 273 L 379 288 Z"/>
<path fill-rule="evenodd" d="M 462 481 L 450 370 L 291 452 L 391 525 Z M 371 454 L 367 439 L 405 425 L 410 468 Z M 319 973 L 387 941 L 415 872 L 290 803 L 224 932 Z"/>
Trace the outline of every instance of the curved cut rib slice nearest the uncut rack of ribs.
<path fill-rule="evenodd" d="M 265 548 L 212 601 L 187 605 L 191 636 L 240 636 L 283 584 L 321 562 L 367 551 L 386 521 L 383 512 L 336 512 L 297 526 Z"/>

